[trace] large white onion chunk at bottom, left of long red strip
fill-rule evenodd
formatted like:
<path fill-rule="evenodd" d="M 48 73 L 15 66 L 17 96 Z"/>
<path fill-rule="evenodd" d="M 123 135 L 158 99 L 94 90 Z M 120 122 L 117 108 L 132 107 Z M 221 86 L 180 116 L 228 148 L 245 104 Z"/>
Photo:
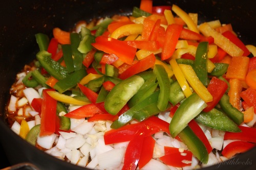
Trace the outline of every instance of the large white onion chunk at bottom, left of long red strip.
<path fill-rule="evenodd" d="M 124 155 L 124 148 L 117 148 L 97 155 L 99 167 L 115 168 L 120 166 Z"/>

